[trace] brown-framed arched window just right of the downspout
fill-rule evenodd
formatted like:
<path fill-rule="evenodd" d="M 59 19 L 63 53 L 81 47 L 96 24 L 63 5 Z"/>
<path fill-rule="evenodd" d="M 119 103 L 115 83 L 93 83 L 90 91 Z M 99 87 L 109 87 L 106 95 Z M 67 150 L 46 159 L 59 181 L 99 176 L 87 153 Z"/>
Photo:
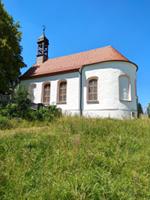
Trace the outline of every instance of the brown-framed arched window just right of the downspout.
<path fill-rule="evenodd" d="M 88 79 L 87 85 L 87 101 L 96 102 L 98 100 L 97 98 L 97 78 L 90 78 Z"/>

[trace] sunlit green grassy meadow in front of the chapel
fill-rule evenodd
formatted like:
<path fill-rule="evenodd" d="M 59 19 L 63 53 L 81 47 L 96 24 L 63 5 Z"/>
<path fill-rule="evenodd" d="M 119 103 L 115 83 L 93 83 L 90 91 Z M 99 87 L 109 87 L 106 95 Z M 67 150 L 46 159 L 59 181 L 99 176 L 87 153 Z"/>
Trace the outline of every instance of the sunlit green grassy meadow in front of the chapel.
<path fill-rule="evenodd" d="M 1 200 L 150 199 L 150 120 L 62 117 L 8 128 Z"/>

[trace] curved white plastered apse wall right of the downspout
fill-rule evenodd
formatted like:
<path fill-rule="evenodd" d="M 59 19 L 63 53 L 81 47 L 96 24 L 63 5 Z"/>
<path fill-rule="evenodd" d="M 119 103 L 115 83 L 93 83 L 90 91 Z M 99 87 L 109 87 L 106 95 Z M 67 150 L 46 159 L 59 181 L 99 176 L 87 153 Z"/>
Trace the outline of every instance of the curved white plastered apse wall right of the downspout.
<path fill-rule="evenodd" d="M 105 62 L 83 68 L 83 115 L 92 117 L 130 118 L 137 114 L 135 90 L 136 67 L 128 62 Z M 131 82 L 131 101 L 120 101 L 119 76 L 126 74 Z M 98 103 L 87 102 L 87 79 L 98 78 Z"/>

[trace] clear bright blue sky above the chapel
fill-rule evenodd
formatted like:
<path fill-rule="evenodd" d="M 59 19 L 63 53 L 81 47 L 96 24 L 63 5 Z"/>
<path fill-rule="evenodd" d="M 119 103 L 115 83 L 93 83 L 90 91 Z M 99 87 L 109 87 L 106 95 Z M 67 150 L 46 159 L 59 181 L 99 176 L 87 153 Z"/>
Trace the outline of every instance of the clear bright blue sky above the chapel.
<path fill-rule="evenodd" d="M 3 0 L 21 24 L 23 57 L 35 63 L 46 25 L 49 57 L 112 45 L 139 66 L 138 96 L 150 102 L 150 0 Z M 22 73 L 28 68 L 22 70 Z"/>

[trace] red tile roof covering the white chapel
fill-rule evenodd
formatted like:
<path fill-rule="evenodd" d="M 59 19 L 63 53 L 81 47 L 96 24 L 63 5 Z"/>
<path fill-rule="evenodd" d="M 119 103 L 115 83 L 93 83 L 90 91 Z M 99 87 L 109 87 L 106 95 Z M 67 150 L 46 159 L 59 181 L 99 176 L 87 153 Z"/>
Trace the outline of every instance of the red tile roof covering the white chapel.
<path fill-rule="evenodd" d="M 40 65 L 32 66 L 20 79 L 30 79 L 40 76 L 54 75 L 78 71 L 84 65 L 106 61 L 129 61 L 111 46 L 86 52 L 49 59 Z"/>

